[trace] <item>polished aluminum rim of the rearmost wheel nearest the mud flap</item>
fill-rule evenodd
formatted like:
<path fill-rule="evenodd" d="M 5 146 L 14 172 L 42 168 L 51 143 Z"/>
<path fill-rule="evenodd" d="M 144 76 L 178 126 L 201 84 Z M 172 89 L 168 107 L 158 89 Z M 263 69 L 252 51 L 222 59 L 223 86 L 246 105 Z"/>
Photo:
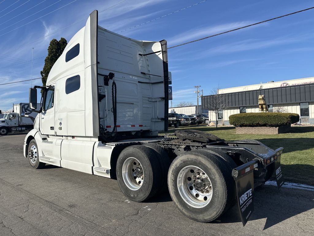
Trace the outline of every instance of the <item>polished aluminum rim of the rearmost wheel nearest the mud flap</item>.
<path fill-rule="evenodd" d="M 207 174 L 197 166 L 186 166 L 178 175 L 178 190 L 181 198 L 190 206 L 202 208 L 213 195 L 213 187 Z"/>

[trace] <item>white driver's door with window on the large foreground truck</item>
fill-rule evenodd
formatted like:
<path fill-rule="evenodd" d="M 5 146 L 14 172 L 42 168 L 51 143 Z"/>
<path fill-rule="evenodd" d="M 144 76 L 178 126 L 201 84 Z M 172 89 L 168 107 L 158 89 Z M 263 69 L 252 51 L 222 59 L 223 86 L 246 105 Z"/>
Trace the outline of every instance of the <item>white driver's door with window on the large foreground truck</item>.
<path fill-rule="evenodd" d="M 42 134 L 54 135 L 55 134 L 55 84 L 47 88 L 44 94 L 41 119 L 40 119 L 40 131 Z"/>

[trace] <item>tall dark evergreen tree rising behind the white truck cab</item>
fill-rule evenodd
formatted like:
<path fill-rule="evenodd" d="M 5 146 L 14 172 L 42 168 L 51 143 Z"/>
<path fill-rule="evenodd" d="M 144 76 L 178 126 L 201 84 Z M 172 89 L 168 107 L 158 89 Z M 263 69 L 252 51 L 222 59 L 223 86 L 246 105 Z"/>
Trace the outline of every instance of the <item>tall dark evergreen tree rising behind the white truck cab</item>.
<path fill-rule="evenodd" d="M 47 78 L 48 78 L 48 75 L 52 66 L 55 64 L 57 59 L 61 56 L 67 44 L 68 42 L 65 38 L 61 38 L 59 41 L 57 39 L 52 39 L 50 41 L 50 44 L 48 47 L 48 55 L 46 56 L 46 59 L 45 59 L 45 65 L 42 71 L 40 72 L 43 86 L 46 85 Z"/>

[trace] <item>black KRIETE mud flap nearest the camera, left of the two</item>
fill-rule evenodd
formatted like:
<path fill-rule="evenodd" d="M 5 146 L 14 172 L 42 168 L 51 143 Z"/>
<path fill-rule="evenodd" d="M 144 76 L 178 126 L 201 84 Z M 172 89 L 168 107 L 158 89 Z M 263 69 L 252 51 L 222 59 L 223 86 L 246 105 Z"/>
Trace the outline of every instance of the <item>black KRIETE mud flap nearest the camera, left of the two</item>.
<path fill-rule="evenodd" d="M 254 176 L 253 170 L 257 167 L 257 159 L 254 159 L 232 171 L 232 176 L 236 181 L 236 191 L 238 206 L 243 226 L 254 211 L 253 192 Z"/>

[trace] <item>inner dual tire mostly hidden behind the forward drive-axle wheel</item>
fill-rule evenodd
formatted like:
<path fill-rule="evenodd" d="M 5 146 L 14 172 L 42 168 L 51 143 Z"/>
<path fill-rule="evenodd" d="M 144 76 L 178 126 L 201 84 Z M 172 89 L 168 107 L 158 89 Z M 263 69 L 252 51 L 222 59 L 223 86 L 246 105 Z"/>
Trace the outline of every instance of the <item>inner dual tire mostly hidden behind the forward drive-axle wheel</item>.
<path fill-rule="evenodd" d="M 155 155 L 158 157 L 160 169 L 161 169 L 161 186 L 160 191 L 165 192 L 168 190 L 167 175 L 170 167 L 170 159 L 166 151 L 155 143 L 146 143 L 144 146 L 154 150 Z"/>

